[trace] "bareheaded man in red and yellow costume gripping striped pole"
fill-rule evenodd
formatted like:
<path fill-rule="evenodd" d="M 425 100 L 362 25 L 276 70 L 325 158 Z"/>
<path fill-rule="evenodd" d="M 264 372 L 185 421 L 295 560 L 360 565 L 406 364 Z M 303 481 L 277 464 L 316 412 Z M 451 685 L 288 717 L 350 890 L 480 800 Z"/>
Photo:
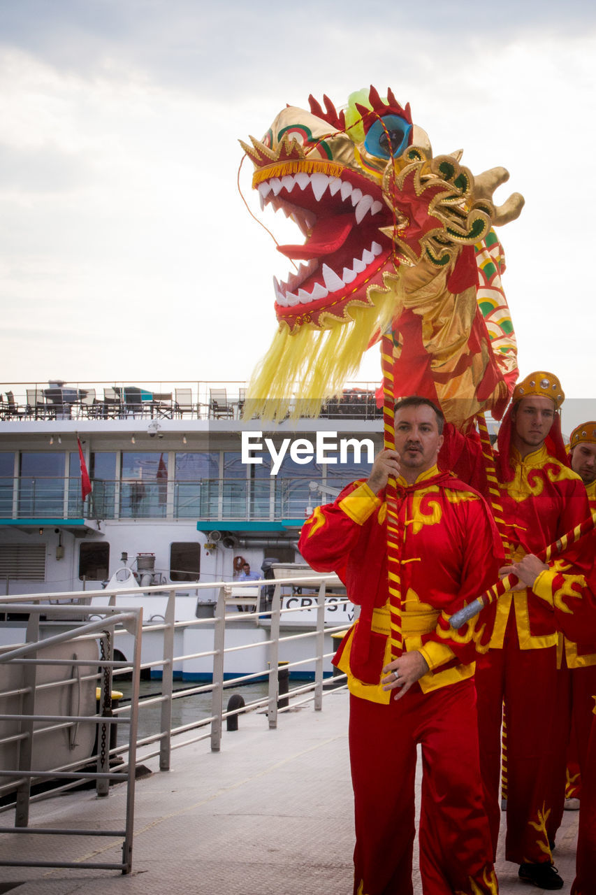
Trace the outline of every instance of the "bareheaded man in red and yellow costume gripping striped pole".
<path fill-rule="evenodd" d="M 425 895 L 495 895 L 482 798 L 477 653 L 490 609 L 459 631 L 449 617 L 497 580 L 502 562 L 490 508 L 440 473 L 443 416 L 428 399 L 396 403 L 395 450 L 376 457 L 366 482 L 317 507 L 299 550 L 336 572 L 360 618 L 334 663 L 350 690 L 349 744 L 356 845 L 354 895 L 413 892 L 414 773 L 422 748 L 420 868 Z M 386 485 L 396 477 L 396 507 Z M 396 529 L 396 548 L 387 528 Z M 403 650 L 393 644 L 403 638 Z"/>

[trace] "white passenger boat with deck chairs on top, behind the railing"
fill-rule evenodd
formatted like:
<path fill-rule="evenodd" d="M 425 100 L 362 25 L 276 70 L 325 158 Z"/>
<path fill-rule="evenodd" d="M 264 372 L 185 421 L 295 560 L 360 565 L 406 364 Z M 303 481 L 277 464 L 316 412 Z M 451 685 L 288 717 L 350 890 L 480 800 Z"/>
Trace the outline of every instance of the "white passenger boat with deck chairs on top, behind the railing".
<path fill-rule="evenodd" d="M 244 562 L 268 578 L 303 564 L 304 518 L 368 474 L 381 447 L 374 388 L 346 387 L 316 420 L 273 424 L 241 420 L 238 382 L 0 384 L 0 594 L 4 585 L 51 602 L 84 590 L 81 599 L 100 607 L 102 587 L 138 585 L 144 620 L 157 626 L 168 585 L 188 583 L 175 601 L 183 621 L 209 615 L 217 592 L 206 585 L 233 587 Z M 266 586 L 254 588 L 267 596 Z M 314 594 L 290 588 L 284 605 L 297 609 L 284 626 L 313 628 Z M 326 611 L 327 626 L 352 618 L 345 603 Z M 0 625 L 0 644 L 14 643 L 18 613 Z M 250 631 L 265 641 L 267 626 L 238 612 L 239 638 Z M 145 658 L 151 637 L 143 644 Z M 197 652 L 180 645 L 180 654 Z M 176 673 L 204 672 L 195 661 Z"/>

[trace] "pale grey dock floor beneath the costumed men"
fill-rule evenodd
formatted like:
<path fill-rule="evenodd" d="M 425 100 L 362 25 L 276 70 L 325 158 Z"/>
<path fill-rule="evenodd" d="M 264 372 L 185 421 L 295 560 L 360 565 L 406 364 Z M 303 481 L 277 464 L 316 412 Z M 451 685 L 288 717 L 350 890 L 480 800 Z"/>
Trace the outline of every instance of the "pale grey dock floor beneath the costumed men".
<path fill-rule="evenodd" d="M 347 750 L 348 695 L 329 691 L 282 713 L 275 730 L 258 712 L 240 716 L 219 753 L 209 740 L 175 749 L 170 771 L 136 782 L 132 874 L 114 870 L 0 866 L 0 893 L 14 895 L 351 895 L 353 819 Z M 420 763 L 419 763 L 420 764 Z M 420 778 L 417 796 L 420 794 Z M 30 824 L 122 828 L 125 786 L 31 806 Z M 568 895 L 575 876 L 577 812 L 565 812 L 555 861 Z M 13 813 L 0 815 L 0 825 Z M 501 837 L 503 840 L 504 837 Z M 501 893 L 541 891 L 517 878 L 499 846 Z M 0 835 L 0 859 L 119 861 L 115 840 Z M 417 859 L 414 864 L 416 865 Z M 414 892 L 421 882 L 414 870 Z"/>

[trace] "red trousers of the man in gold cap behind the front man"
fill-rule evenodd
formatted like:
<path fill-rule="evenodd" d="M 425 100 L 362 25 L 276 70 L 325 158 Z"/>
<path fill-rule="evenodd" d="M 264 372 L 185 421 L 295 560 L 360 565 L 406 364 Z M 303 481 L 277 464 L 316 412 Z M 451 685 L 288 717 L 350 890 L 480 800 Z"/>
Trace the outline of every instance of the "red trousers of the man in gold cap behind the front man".
<path fill-rule="evenodd" d="M 509 621 L 513 618 L 513 612 Z M 500 823 L 501 721 L 507 725 L 507 861 L 552 863 L 547 820 L 558 763 L 557 648 L 520 650 L 507 626 L 501 650 L 489 650 L 476 669 L 481 775 L 493 857 Z M 559 737 L 560 738 L 560 737 Z"/>

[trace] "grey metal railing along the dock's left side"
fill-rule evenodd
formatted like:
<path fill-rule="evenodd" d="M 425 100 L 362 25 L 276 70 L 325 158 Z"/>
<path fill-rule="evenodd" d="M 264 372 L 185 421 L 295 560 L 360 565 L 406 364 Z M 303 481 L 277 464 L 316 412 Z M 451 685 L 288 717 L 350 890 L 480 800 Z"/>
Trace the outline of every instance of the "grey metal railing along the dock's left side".
<path fill-rule="evenodd" d="M 229 595 L 230 584 L 228 582 L 219 581 L 216 583 L 209 584 L 201 584 L 196 583 L 192 584 L 189 587 L 189 583 L 176 584 L 176 585 L 168 585 L 166 590 L 168 592 L 167 596 L 167 604 L 166 604 L 166 612 L 165 612 L 165 620 L 163 624 L 159 625 L 146 625 L 141 628 L 141 607 L 136 606 L 136 608 L 132 609 L 131 605 L 135 602 L 142 601 L 142 597 L 144 593 L 147 592 L 161 592 L 163 593 L 165 588 L 163 585 L 154 585 L 150 587 L 145 587 L 140 591 L 137 588 L 110 588 L 107 590 L 101 590 L 96 592 L 62 592 L 62 593 L 38 593 L 38 594 L 22 594 L 15 595 L 12 597 L 6 597 L 3 599 L 2 603 L 0 603 L 0 612 L 10 611 L 11 608 L 14 609 L 15 606 L 19 607 L 20 614 L 29 614 L 30 615 L 30 623 L 29 623 L 29 632 L 28 632 L 28 641 L 27 644 L 17 645 L 14 644 L 13 647 L 5 647 L 4 654 L 0 652 L 0 674 L 2 673 L 2 668 L 6 667 L 9 663 L 20 663 L 25 669 L 26 673 L 35 673 L 35 669 L 37 669 L 37 665 L 43 663 L 43 656 L 41 655 L 44 646 L 55 645 L 55 644 L 66 644 L 69 641 L 83 641 L 89 639 L 96 639 L 98 634 L 101 634 L 109 628 L 112 632 L 111 642 L 110 642 L 110 650 L 104 660 L 100 662 L 102 666 L 105 667 L 105 674 L 107 677 L 104 679 L 104 688 L 102 694 L 102 713 L 109 713 L 109 717 L 106 719 L 99 718 L 98 716 L 92 716 L 90 720 L 93 720 L 97 717 L 98 725 L 105 725 L 108 729 L 112 723 L 129 723 L 130 733 L 129 733 L 129 742 L 127 745 L 123 746 L 114 746 L 110 749 L 106 749 L 106 754 L 103 756 L 104 764 L 100 768 L 99 767 L 99 756 L 98 756 L 98 770 L 97 771 L 85 771 L 85 769 L 80 770 L 78 767 L 78 763 L 64 764 L 59 767 L 55 767 L 51 771 L 43 771 L 42 773 L 38 773 L 36 775 L 33 769 L 29 768 L 17 768 L 14 769 L 13 773 L 10 776 L 13 776 L 15 780 L 19 782 L 20 788 L 24 791 L 27 789 L 29 791 L 30 780 L 34 779 L 36 776 L 38 779 L 48 779 L 50 777 L 54 777 L 55 780 L 63 780 L 68 781 L 64 782 L 63 785 L 56 789 L 55 791 L 64 791 L 64 789 L 72 788 L 73 785 L 76 785 L 82 778 L 90 778 L 95 779 L 97 781 L 98 788 L 103 787 L 103 792 L 107 793 L 107 789 L 109 786 L 109 780 L 115 779 L 117 773 L 114 771 L 110 771 L 108 763 L 110 759 L 117 759 L 118 756 L 121 756 L 125 753 L 128 753 L 128 771 L 127 771 L 127 785 L 129 788 L 129 792 L 132 792 L 132 796 L 127 797 L 127 822 L 126 822 L 126 831 L 123 840 L 123 863 L 122 865 L 117 865 L 118 869 L 121 869 L 123 873 L 129 873 L 132 867 L 132 817 L 133 817 L 133 785 L 131 781 L 134 777 L 134 764 L 137 761 L 137 754 L 139 754 L 139 761 L 145 762 L 150 758 L 158 757 L 159 758 L 159 769 L 160 771 L 166 771 L 170 768 L 171 763 L 171 754 L 172 751 L 176 748 L 180 748 L 182 746 L 191 745 L 192 743 L 199 742 L 200 740 L 209 739 L 210 748 L 213 752 L 218 752 L 221 748 L 222 743 L 222 729 L 223 729 L 223 720 L 233 716 L 234 714 L 238 714 L 239 712 L 254 712 L 263 706 L 267 707 L 267 719 L 268 719 L 268 727 L 270 729 L 274 729 L 277 727 L 277 719 L 279 713 L 287 711 L 284 707 L 279 707 L 279 680 L 278 680 L 278 657 L 279 657 L 279 648 L 280 644 L 285 644 L 289 641 L 304 641 L 306 638 L 311 637 L 315 642 L 315 648 L 313 650 L 313 656 L 307 659 L 299 659 L 297 661 L 292 661 L 287 663 L 287 668 L 298 668 L 299 666 L 305 664 L 306 662 L 311 662 L 314 659 L 315 662 L 315 673 L 314 680 L 303 684 L 302 686 L 296 686 L 290 690 L 288 693 L 288 700 L 291 701 L 292 705 L 304 705 L 306 703 L 312 702 L 313 708 L 315 711 L 321 711 L 323 704 L 323 661 L 327 659 L 330 655 L 329 652 L 324 652 L 324 636 L 325 633 L 332 633 L 338 630 L 345 630 L 345 625 L 343 626 L 328 626 L 325 627 L 325 607 L 327 605 L 337 605 L 337 597 L 334 596 L 332 601 L 326 601 L 326 588 L 329 584 L 336 585 L 339 583 L 339 579 L 336 575 L 290 575 L 284 578 L 279 579 L 260 579 L 259 581 L 246 581 L 234 582 L 234 589 L 236 587 L 243 588 L 254 588 L 255 586 L 260 587 L 270 587 L 274 586 L 273 598 L 271 601 L 270 609 L 266 611 L 256 610 L 251 613 L 242 613 L 234 614 L 228 611 L 231 604 L 234 603 L 242 603 L 243 598 L 232 598 Z M 297 634 L 286 635 L 285 632 L 280 631 L 281 627 L 281 619 L 287 614 L 288 616 L 292 616 L 294 612 L 299 609 L 285 609 L 282 607 L 282 592 L 288 585 L 304 585 L 308 584 L 311 588 L 316 589 L 317 592 L 317 606 L 316 606 L 316 625 L 313 627 L 313 630 L 309 631 L 301 631 Z M 209 590 L 213 591 L 214 587 L 217 589 L 217 604 L 214 610 L 214 618 L 194 618 L 185 621 L 175 621 L 175 595 L 179 591 L 183 591 L 184 593 L 188 593 L 190 590 L 196 590 L 196 592 Z M 44 613 L 47 616 L 55 619 L 64 618 L 66 616 L 71 616 L 74 606 L 72 604 L 55 604 L 52 602 L 51 605 L 47 604 L 48 598 L 51 598 L 52 601 L 58 600 L 70 600 L 72 603 L 75 603 L 77 599 L 83 595 L 92 600 L 94 595 L 101 596 L 102 598 L 108 598 L 111 605 L 101 605 L 94 606 L 91 602 L 90 605 L 80 605 L 76 604 L 77 613 L 81 613 L 81 617 L 87 620 L 81 620 L 79 622 L 69 621 L 68 624 L 72 625 L 72 630 L 68 632 L 61 632 L 57 635 L 47 636 L 42 640 L 38 639 L 38 623 L 39 616 Z M 248 596 L 244 598 L 244 600 L 248 600 Z M 125 607 L 119 607 L 115 605 L 117 600 L 127 601 L 127 605 Z M 130 601 L 130 604 L 129 602 Z M 100 618 L 96 618 L 99 616 Z M 92 620 L 90 620 L 92 619 Z M 238 620 L 242 620 L 244 625 L 249 629 L 251 626 L 268 626 L 268 637 L 265 641 L 260 640 L 258 644 L 233 644 L 226 646 L 226 626 L 228 626 L 231 622 L 237 622 Z M 64 622 L 65 624 L 66 622 Z M 135 653 L 134 660 L 132 662 L 125 661 L 116 661 L 112 658 L 111 652 L 114 649 L 114 644 L 117 642 L 116 638 L 122 635 L 126 635 L 126 629 L 119 626 L 119 623 L 126 625 L 127 628 L 131 628 L 131 626 L 136 631 L 136 627 L 139 627 L 138 635 L 133 634 L 134 643 L 135 643 Z M 191 652 L 188 654 L 184 654 L 183 656 L 175 655 L 175 631 L 176 630 L 184 630 L 186 628 L 193 629 L 197 626 L 212 626 L 214 632 L 214 648 L 210 651 L 201 651 L 201 652 Z M 158 633 L 159 635 L 163 635 L 163 657 L 157 661 L 150 661 L 146 663 L 142 663 L 140 661 L 140 633 L 141 630 L 144 632 L 153 632 Z M 285 635 L 284 635 L 285 634 Z M 234 678 L 232 680 L 226 680 L 224 675 L 224 659 L 226 654 L 232 652 L 238 652 L 240 649 L 250 649 L 251 647 L 263 647 L 268 651 L 268 668 L 260 669 L 257 672 L 251 672 L 248 675 L 242 675 L 240 677 Z M 32 653 L 38 652 L 36 660 L 32 660 L 30 658 Z M 172 705 L 175 699 L 183 698 L 182 693 L 175 693 L 174 691 L 174 669 L 175 664 L 177 662 L 182 661 L 183 659 L 196 659 L 205 656 L 212 657 L 212 681 L 209 684 L 196 686 L 189 688 L 189 693 L 186 695 L 192 695 L 194 693 L 208 693 L 209 690 L 211 692 L 211 711 L 209 712 L 209 717 L 192 720 L 191 723 L 185 723 L 178 727 L 173 727 L 172 724 Z M 48 662 L 56 663 L 56 662 L 65 662 L 66 660 L 55 660 L 51 659 Z M 68 660 L 68 664 L 74 664 L 74 661 Z M 89 660 L 81 660 L 81 664 L 86 664 L 89 666 Z M 140 677 L 140 668 L 141 667 L 161 667 L 162 669 L 162 681 L 161 681 L 161 695 L 157 697 L 152 697 L 150 699 L 150 703 L 140 702 L 139 699 L 139 677 Z M 114 710 L 111 709 L 111 703 L 108 700 L 108 695 L 111 693 L 112 687 L 112 672 L 114 672 L 115 676 L 119 673 L 123 673 L 125 671 L 133 672 L 133 686 L 132 686 L 132 696 L 131 703 L 127 705 L 121 705 Z M 87 676 L 87 679 L 92 676 Z M 250 703 L 243 706 L 242 709 L 233 709 L 233 710 L 225 710 L 223 703 L 223 695 L 224 691 L 229 686 L 237 685 L 238 683 L 246 683 L 250 682 L 252 679 L 256 678 L 267 678 L 268 679 L 268 695 L 266 697 L 261 697 L 255 701 L 251 701 Z M 106 680 L 109 679 L 109 689 L 106 691 Z M 340 679 L 337 678 L 337 681 Z M 337 683 L 334 681 L 334 684 Z M 21 691 L 19 691 L 22 695 L 22 713 L 21 713 L 21 730 L 25 729 L 25 735 L 23 737 L 22 742 L 29 749 L 29 754 L 31 752 L 31 746 L 33 742 L 33 737 L 38 736 L 39 733 L 43 731 L 37 731 L 33 729 L 33 725 L 35 720 L 41 720 L 41 718 L 46 717 L 47 720 L 59 720 L 64 723 L 64 725 L 76 724 L 83 720 L 83 716 L 72 714 L 72 716 L 54 716 L 54 715 L 46 715 L 39 716 L 35 715 L 34 711 L 30 710 L 31 700 L 34 698 L 35 694 L 35 683 L 31 684 L 31 680 L 26 680 L 25 684 L 27 686 L 23 686 Z M 340 684 L 341 686 L 341 684 Z M 14 694 L 15 689 L 10 690 L 12 694 Z M 107 695 L 106 695 L 107 694 Z M 0 688 L 0 699 L 6 695 L 6 692 Z M 28 703 L 28 700 L 30 701 Z M 149 704 L 161 704 L 160 709 L 160 719 L 158 724 L 158 730 L 154 733 L 151 733 L 149 736 L 145 736 L 142 738 L 137 737 L 137 729 L 138 729 L 138 718 L 139 712 L 143 709 L 145 705 Z M 13 718 L 14 714 L 11 715 L 0 715 L 0 719 L 2 718 Z M 17 716 L 18 717 L 18 716 Z M 89 719 L 87 719 L 89 720 Z M 29 728 L 27 727 L 29 725 Z M 190 734 L 190 736 L 188 736 Z M 21 736 L 21 735 L 19 735 Z M 14 737 L 14 735 L 13 735 Z M 0 746 L 2 744 L 13 738 L 8 737 L 5 739 L 0 738 Z M 137 750 L 142 750 L 142 752 L 137 753 Z M 149 751 L 148 751 L 149 750 Z M 27 752 L 27 749 L 25 749 Z M 131 776 L 132 775 L 132 776 Z M 0 788 L 0 792 L 2 788 Z M 48 797 L 47 793 L 44 793 L 40 797 Z M 38 797 L 28 797 L 27 798 L 27 811 L 26 814 L 23 813 L 22 805 L 19 800 L 17 800 L 16 806 L 16 823 L 15 827 L 17 829 L 27 827 L 28 823 L 28 812 L 30 802 L 36 801 Z M 0 809 L 3 810 L 3 809 Z M 4 809 L 7 810 L 7 809 Z M 129 818 L 130 818 L 130 831 L 129 831 Z M 29 828 L 28 828 L 29 829 Z M 58 831 L 56 831 L 58 832 Z M 80 831 L 66 831 L 65 834 L 77 834 Z M 130 832 L 130 835 L 129 835 Z M 97 833 L 101 835 L 101 832 Z M 10 862 L 8 862 L 10 863 Z M 41 864 L 38 862 L 33 862 L 32 865 L 40 865 L 47 866 L 48 864 Z M 55 865 L 55 864 L 52 864 Z M 67 863 L 60 863 L 59 866 L 68 866 Z M 80 866 L 98 866 L 96 863 L 89 864 L 81 864 Z M 101 865 L 104 868 L 108 866 L 114 865 Z"/>

